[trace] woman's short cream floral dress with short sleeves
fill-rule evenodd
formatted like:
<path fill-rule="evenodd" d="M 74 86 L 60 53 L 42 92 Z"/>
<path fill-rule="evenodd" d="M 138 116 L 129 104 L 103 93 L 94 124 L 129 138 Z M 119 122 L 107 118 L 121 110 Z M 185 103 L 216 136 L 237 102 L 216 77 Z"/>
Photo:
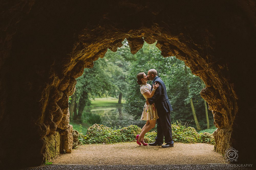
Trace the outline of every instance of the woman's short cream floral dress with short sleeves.
<path fill-rule="evenodd" d="M 149 91 L 151 93 L 151 85 L 150 84 L 142 84 L 141 85 L 141 94 L 143 95 L 145 92 Z M 147 97 L 143 95 L 144 98 L 147 100 Z M 152 105 L 145 102 L 143 112 L 141 115 L 141 120 L 156 120 L 158 119 L 157 110 L 155 107 L 155 103 Z"/>

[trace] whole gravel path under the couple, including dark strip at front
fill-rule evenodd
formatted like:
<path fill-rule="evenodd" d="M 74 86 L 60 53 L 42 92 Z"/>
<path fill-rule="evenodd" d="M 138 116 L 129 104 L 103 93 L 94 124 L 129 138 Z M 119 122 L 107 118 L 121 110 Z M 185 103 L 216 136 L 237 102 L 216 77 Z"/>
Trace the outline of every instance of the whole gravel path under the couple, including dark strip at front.
<path fill-rule="evenodd" d="M 138 146 L 135 142 L 109 145 L 81 145 L 72 153 L 61 154 L 52 165 L 27 170 L 247 170 L 249 168 L 226 164 L 214 145 L 205 143 L 174 143 L 173 148 Z"/>

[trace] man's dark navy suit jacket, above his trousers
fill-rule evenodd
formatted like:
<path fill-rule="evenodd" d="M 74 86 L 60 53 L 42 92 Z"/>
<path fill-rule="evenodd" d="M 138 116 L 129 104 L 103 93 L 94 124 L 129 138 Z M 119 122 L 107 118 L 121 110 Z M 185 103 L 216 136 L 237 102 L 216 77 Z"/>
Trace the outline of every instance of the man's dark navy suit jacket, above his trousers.
<path fill-rule="evenodd" d="M 161 112 L 170 112 L 173 110 L 170 101 L 168 99 L 167 93 L 166 93 L 166 87 L 159 77 L 156 78 L 154 82 L 159 83 L 159 87 L 156 89 L 155 94 L 152 98 L 148 99 L 148 102 L 150 104 L 155 103 L 157 113 L 161 114 Z M 153 83 L 154 83 L 153 82 Z M 153 86 L 152 86 L 153 87 Z"/>

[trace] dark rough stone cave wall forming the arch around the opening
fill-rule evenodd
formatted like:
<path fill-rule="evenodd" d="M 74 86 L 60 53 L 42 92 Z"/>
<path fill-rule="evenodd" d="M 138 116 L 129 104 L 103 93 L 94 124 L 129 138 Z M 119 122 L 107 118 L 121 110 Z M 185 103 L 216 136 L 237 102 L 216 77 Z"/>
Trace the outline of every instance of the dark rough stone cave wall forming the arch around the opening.
<path fill-rule="evenodd" d="M 0 41 L 2 166 L 41 164 L 51 157 L 46 150 L 56 133 L 59 151 L 71 152 L 68 97 L 76 78 L 125 38 L 132 54 L 144 41 L 157 40 L 164 57 L 185 61 L 206 84 L 201 96 L 218 128 L 216 151 L 223 154 L 232 146 L 239 162 L 255 161 L 254 1 L 1 3 L 6 20 Z"/>

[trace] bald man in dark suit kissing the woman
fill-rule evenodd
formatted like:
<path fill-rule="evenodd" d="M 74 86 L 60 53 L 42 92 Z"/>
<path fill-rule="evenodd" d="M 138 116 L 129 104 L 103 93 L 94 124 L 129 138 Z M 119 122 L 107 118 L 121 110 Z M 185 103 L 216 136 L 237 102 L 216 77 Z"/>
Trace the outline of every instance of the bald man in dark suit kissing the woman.
<path fill-rule="evenodd" d="M 154 96 L 146 101 L 147 104 L 155 103 L 159 117 L 159 119 L 157 119 L 157 136 L 155 137 L 155 142 L 149 143 L 148 145 L 162 146 L 162 148 L 173 147 L 174 142 L 172 139 L 172 127 L 170 119 L 170 111 L 172 111 L 173 108 L 169 102 L 165 84 L 157 76 L 157 71 L 155 69 L 150 69 L 147 72 L 147 78 L 148 80 L 153 81 L 152 84 L 159 83 L 159 87 L 156 89 Z M 162 145 L 164 138 L 166 144 Z"/>

